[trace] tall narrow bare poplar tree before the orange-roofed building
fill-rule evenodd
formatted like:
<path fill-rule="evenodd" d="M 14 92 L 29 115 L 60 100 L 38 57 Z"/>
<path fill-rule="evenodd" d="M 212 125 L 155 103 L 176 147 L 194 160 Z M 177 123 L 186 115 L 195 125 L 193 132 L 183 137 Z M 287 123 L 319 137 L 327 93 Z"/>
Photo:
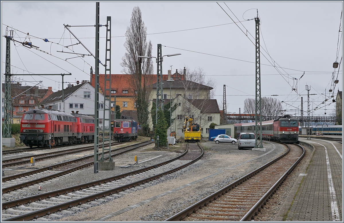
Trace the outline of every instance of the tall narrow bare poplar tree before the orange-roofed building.
<path fill-rule="evenodd" d="M 134 7 L 131 14 L 130 25 L 126 31 L 124 47 L 126 53 L 122 57 L 122 72 L 128 75 L 128 83 L 132 95 L 135 95 L 137 119 L 141 125 L 141 134 L 149 133 L 148 114 L 150 88 L 147 88 L 153 80 L 153 61 L 151 59 L 138 58 L 138 56 L 152 56 L 152 43 L 147 43 L 147 27 L 142 21 L 141 10 Z"/>

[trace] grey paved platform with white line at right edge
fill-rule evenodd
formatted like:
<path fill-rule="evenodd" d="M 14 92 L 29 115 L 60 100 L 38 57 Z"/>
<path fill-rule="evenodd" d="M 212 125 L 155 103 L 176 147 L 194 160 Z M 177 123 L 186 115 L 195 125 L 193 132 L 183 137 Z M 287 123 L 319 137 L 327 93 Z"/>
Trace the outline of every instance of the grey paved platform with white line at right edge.
<path fill-rule="evenodd" d="M 315 149 L 286 221 L 343 222 L 342 144 L 317 139 L 299 140 L 312 144 Z"/>

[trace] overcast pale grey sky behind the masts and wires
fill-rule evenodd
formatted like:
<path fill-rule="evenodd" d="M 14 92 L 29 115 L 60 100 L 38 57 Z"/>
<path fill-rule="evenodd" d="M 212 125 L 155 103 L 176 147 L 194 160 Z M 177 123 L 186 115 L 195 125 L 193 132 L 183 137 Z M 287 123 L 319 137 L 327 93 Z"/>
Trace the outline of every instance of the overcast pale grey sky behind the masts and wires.
<path fill-rule="evenodd" d="M 302 96 L 304 111 L 307 110 L 306 84 L 311 86 L 310 94 L 317 94 L 310 97 L 311 109 L 324 101 L 323 94 L 326 93 L 327 97 L 329 96 L 334 71 L 332 63 L 341 60 L 343 51 L 343 36 L 340 32 L 338 59 L 336 59 L 338 31 L 343 30 L 342 1 L 225 2 L 229 9 L 224 2 L 218 3 L 235 22 L 238 22 L 237 19 L 241 21 L 241 24 L 237 23 L 241 30 L 215 1 L 100 2 L 100 24 L 106 24 L 106 16 L 111 16 L 112 21 L 111 73 L 121 73 L 120 63 L 125 53 L 123 47 L 125 37 L 123 36 L 129 25 L 132 9 L 137 5 L 141 9 L 142 19 L 147 26 L 149 34 L 147 39 L 152 41 L 153 56 L 157 54 L 157 44 L 166 46 L 162 47 L 163 55 L 182 54 L 164 57 L 163 74 L 167 74 L 167 71 L 171 69 L 170 66 L 172 66 L 172 72 L 184 66 L 192 70 L 201 67 L 207 78 L 212 78 L 217 83 L 215 98 L 218 103 L 222 102 L 223 84 L 226 84 L 227 112 L 238 114 L 241 108 L 241 113 L 243 113 L 245 98 L 254 98 L 255 95 L 255 45 L 250 41 L 255 42 L 250 36 L 250 34 L 255 36 L 255 21 L 247 20 L 254 19 L 257 15 L 255 9 L 258 9 L 261 20 L 262 96 L 279 95 L 274 97 L 299 109 Z M 63 24 L 95 24 L 95 5 L 95 2 L 2 1 L 1 35 L 6 35 L 7 26 L 13 27 L 18 30 L 15 31 L 15 40 L 32 42 L 33 45 L 39 46 L 39 49 L 53 55 L 25 48 L 18 43 L 15 43 L 15 47 L 11 42 L 11 65 L 17 67 L 12 67 L 11 71 L 13 70 L 17 77 L 24 78 L 25 81 L 42 80 L 43 86 L 52 86 L 53 91 L 58 90 L 58 81 L 60 81 L 61 89 L 61 77 L 46 76 L 44 78 L 20 74 L 28 73 L 27 71 L 36 74 L 70 72 L 72 76 L 65 76 L 65 81 L 75 83 L 76 80 L 89 80 L 90 66 L 95 65 L 93 57 L 85 56 L 84 60 L 68 59 L 66 62 L 66 58 L 75 55 L 56 51 L 68 51 L 63 46 L 77 43 L 73 36 L 71 39 L 71 35 L 65 30 Z M 71 27 L 71 30 L 89 50 L 95 52 L 95 27 Z M 105 61 L 105 31 L 105 27 L 100 28 L 100 37 L 103 37 L 100 38 L 102 62 Z M 250 38 L 246 36 L 246 32 Z M 30 36 L 30 39 L 25 39 L 26 33 L 38 38 Z M 54 43 L 44 42 L 42 40 L 44 38 Z M 1 71 L 4 73 L 6 56 L 4 37 L 1 43 Z M 267 50 L 270 56 L 262 48 Z M 88 54 L 80 44 L 73 46 L 73 50 L 77 53 Z M 269 58 L 270 62 L 265 57 Z M 273 61 L 276 66 L 284 69 L 279 68 L 278 72 L 271 66 Z M 154 71 L 156 72 L 155 61 Z M 305 75 L 300 79 L 303 71 Z M 338 69 L 336 69 L 335 79 L 337 71 Z M 100 66 L 100 72 L 104 73 L 104 67 Z M 341 66 L 334 98 L 338 89 L 342 91 L 342 77 Z M 294 80 L 295 78 L 297 80 Z M 32 85 L 29 82 L 26 84 Z M 297 88 L 297 92 L 292 91 L 292 88 Z M 326 102 L 326 109 L 334 109 L 334 103 L 331 105 L 328 103 L 332 102 L 331 99 Z M 284 109 L 294 109 L 294 107 L 283 103 Z M 315 110 L 313 115 L 324 115 L 324 112 L 323 107 Z M 327 115 L 330 112 L 331 110 L 327 110 Z M 295 115 L 295 112 L 290 111 L 289 114 Z M 297 115 L 300 113 L 297 112 Z M 304 115 L 307 115 L 307 112 L 304 112 Z"/>

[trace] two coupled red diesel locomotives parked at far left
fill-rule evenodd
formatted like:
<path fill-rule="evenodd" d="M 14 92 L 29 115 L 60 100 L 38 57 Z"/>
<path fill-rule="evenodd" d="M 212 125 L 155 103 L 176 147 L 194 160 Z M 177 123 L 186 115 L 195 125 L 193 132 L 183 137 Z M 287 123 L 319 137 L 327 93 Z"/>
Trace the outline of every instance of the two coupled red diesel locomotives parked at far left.
<path fill-rule="evenodd" d="M 81 114 L 75 116 L 44 108 L 29 110 L 20 122 L 20 142 L 32 147 L 49 146 L 49 136 L 52 145 L 93 140 L 90 134 L 94 134 L 94 118 Z"/>

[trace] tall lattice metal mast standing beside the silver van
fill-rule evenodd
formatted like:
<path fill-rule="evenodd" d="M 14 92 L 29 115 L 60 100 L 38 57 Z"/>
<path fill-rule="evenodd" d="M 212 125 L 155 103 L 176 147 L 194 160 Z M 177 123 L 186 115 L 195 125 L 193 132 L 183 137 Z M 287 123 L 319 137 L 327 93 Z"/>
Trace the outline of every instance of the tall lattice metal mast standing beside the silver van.
<path fill-rule="evenodd" d="M 263 148 L 261 135 L 261 86 L 260 86 L 260 44 L 259 44 L 259 18 L 258 9 L 256 21 L 256 144 L 255 148 Z M 259 115 L 258 115 L 259 113 Z M 258 125 L 259 122 L 259 125 Z M 258 139 L 259 138 L 259 142 Z"/>

